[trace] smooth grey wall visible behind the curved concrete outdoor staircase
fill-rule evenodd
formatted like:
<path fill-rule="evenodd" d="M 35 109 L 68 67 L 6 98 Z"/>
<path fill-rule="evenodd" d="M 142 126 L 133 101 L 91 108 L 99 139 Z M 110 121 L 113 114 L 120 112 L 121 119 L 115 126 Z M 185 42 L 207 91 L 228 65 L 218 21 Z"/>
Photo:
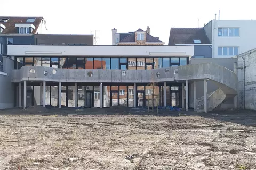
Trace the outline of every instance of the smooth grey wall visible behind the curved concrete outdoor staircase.
<path fill-rule="evenodd" d="M 221 65 L 223 67 L 226 67 L 227 69 L 233 71 L 233 65 L 236 62 L 236 58 L 192 58 L 189 61 L 189 64 L 198 64 L 198 63 L 206 63 L 206 62 L 212 62 L 218 65 Z M 194 96 L 194 89 L 193 89 L 193 83 L 191 82 L 191 85 L 189 86 L 189 98 L 190 100 L 190 107 L 193 107 L 193 96 Z M 217 84 L 215 84 L 213 81 L 207 81 L 207 94 L 209 94 L 210 92 L 213 92 L 215 90 L 217 90 L 219 87 L 217 86 Z M 196 97 L 202 97 L 204 95 L 204 81 L 197 81 L 196 82 Z M 221 104 L 221 108 L 223 109 L 229 109 L 229 108 L 233 108 L 234 104 L 233 104 L 233 100 L 229 100 L 226 101 L 225 103 Z"/>

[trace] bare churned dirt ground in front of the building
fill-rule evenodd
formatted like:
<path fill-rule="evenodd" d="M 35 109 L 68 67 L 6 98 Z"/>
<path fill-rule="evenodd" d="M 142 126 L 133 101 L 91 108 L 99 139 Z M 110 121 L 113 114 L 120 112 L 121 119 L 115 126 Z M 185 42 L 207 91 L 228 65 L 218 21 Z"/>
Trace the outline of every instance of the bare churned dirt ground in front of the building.
<path fill-rule="evenodd" d="M 6 109 L 0 169 L 256 169 L 255 134 L 253 111 Z"/>

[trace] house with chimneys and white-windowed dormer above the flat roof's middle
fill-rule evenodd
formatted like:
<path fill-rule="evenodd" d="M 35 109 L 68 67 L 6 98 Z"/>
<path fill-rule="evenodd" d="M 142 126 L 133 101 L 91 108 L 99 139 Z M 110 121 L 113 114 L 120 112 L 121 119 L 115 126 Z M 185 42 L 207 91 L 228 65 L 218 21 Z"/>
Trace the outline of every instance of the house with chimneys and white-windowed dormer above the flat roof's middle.
<path fill-rule="evenodd" d="M 147 27 L 146 31 L 138 29 L 129 33 L 117 33 L 114 28 L 112 30 L 112 45 L 164 45 L 159 37 L 150 35 L 150 28 Z"/>

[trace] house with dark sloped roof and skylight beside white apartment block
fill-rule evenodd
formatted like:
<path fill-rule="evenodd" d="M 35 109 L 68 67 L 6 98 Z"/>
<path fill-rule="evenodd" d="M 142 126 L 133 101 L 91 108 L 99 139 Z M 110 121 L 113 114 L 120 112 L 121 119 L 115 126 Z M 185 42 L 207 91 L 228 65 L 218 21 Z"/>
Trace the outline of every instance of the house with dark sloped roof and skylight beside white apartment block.
<path fill-rule="evenodd" d="M 203 28 L 171 28 L 168 45 L 194 45 L 192 58 L 212 58 L 212 44 Z"/>

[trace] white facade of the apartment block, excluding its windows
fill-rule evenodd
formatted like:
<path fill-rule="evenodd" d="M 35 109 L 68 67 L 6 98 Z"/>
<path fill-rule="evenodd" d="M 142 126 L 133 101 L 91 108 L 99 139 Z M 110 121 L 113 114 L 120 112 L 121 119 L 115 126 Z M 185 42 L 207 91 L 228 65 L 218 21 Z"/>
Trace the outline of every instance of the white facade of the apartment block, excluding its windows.
<path fill-rule="evenodd" d="M 214 24 L 214 22 L 216 22 Z M 215 25 L 215 28 L 214 28 Z M 218 28 L 239 28 L 239 37 L 218 37 Z M 216 20 L 212 21 L 212 57 L 231 58 L 232 56 L 218 56 L 218 47 L 238 46 L 239 54 L 256 47 L 256 20 Z"/>

